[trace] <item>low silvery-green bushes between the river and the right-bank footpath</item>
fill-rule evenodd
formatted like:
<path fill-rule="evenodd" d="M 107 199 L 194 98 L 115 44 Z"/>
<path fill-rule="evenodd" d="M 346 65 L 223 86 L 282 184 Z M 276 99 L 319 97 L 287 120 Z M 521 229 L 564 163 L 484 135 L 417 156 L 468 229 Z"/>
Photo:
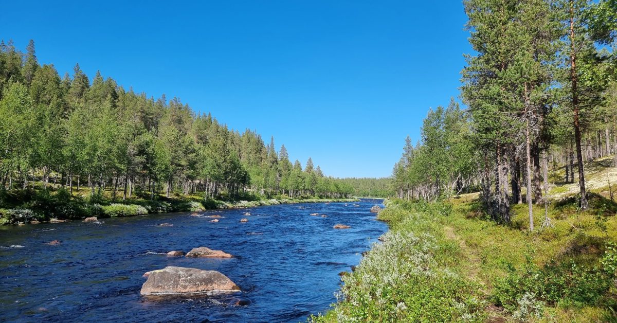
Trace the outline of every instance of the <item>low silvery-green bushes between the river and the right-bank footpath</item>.
<path fill-rule="evenodd" d="M 444 237 L 435 220 L 448 209 L 389 202 L 379 213 L 391 224 L 383 243 L 375 243 L 357 269 L 343 276 L 333 311 L 310 321 L 482 321 L 486 304 L 479 286 L 452 266 L 458 244 Z"/>

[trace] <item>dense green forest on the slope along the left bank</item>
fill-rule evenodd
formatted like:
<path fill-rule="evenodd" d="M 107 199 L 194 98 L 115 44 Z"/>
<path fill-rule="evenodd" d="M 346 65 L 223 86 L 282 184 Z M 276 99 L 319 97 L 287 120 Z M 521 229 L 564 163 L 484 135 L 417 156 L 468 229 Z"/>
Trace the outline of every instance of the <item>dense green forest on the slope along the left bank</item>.
<path fill-rule="evenodd" d="M 242 133 L 178 98 L 126 90 L 77 64 L 60 77 L 39 65 L 34 42 L 20 52 L 0 43 L 0 189 L 92 195 L 113 199 L 159 193 L 205 198 L 286 196 L 343 198 L 348 182 L 326 177 L 312 159 L 291 162 L 252 130 Z"/>

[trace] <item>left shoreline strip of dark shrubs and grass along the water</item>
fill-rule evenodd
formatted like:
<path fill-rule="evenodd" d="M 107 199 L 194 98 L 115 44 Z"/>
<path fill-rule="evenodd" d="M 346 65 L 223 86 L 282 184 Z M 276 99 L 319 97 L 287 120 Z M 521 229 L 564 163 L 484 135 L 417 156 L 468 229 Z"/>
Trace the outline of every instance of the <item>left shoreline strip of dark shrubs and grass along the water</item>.
<path fill-rule="evenodd" d="M 360 201 L 358 198 L 279 198 L 260 199 L 257 201 L 222 201 L 218 199 L 166 198 L 159 200 L 127 199 L 125 201 L 88 201 L 65 196 L 62 191 L 46 196 L 38 203 L 31 203 L 31 208 L 0 208 L 0 225 L 39 224 L 60 222 L 62 220 L 80 220 L 87 217 L 130 217 L 146 214 L 165 214 L 171 212 L 198 212 L 215 209 L 241 209 L 255 206 L 297 203 L 333 203 Z"/>

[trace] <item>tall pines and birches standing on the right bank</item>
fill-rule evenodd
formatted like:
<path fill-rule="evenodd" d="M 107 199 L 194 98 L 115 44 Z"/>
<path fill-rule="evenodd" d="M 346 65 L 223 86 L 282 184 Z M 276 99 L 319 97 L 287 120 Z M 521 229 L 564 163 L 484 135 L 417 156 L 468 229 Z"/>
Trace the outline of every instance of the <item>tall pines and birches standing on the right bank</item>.
<path fill-rule="evenodd" d="M 526 201 L 533 230 L 532 204 L 544 202 L 549 164 L 561 164 L 560 181 L 579 183 L 586 209 L 584 164 L 617 149 L 617 2 L 463 3 L 476 51 L 462 70 L 468 108 L 452 99 L 429 111 L 421 140 L 407 138 L 395 164 L 397 195 L 435 201 L 481 191 L 499 222 Z"/>

